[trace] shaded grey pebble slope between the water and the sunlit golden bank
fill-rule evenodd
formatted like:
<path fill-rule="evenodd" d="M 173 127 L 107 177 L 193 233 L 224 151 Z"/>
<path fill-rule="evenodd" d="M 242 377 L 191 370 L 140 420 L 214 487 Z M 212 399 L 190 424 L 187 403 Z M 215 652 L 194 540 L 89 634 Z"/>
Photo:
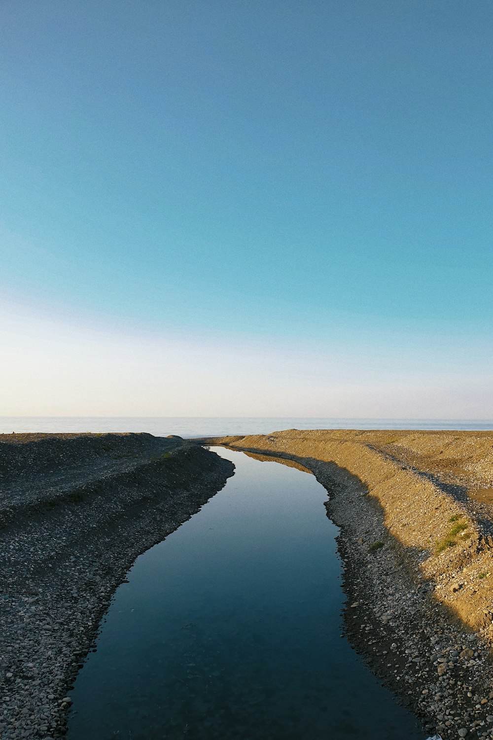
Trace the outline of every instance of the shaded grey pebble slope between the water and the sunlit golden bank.
<path fill-rule="evenodd" d="M 352 644 L 430 734 L 493 737 L 489 646 L 437 604 L 429 582 L 395 547 L 367 494 L 353 491 L 348 505 L 347 483 L 342 496 L 337 482 L 325 484 L 328 516 L 341 527 L 344 617 Z"/>

